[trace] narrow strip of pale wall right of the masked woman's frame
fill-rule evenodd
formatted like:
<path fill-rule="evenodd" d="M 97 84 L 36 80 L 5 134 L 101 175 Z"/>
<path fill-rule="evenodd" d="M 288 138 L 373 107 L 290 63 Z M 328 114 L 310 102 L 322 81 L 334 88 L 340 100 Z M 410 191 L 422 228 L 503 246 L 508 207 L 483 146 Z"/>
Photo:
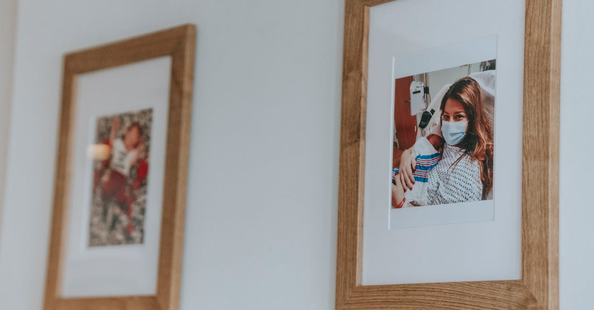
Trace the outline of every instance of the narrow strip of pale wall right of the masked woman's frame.
<path fill-rule="evenodd" d="M 594 2 L 563 1 L 561 48 L 560 294 L 561 309 L 592 309 L 594 165 L 592 55 Z"/>

